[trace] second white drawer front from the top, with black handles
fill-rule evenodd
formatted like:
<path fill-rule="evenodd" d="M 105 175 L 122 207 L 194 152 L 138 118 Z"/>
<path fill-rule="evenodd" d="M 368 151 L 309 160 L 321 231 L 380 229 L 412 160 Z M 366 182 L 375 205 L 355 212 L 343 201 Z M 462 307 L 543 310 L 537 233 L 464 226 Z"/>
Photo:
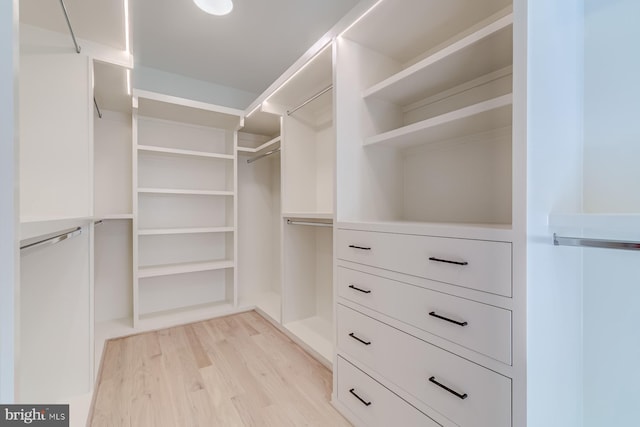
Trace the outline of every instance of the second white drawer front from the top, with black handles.
<path fill-rule="evenodd" d="M 338 295 L 511 364 L 511 311 L 338 267 Z"/>

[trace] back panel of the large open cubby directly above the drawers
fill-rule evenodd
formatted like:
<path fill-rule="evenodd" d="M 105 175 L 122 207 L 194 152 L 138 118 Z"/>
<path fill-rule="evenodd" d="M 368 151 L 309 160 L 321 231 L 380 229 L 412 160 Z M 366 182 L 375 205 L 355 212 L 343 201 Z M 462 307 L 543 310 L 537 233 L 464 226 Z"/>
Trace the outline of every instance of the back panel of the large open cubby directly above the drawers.
<path fill-rule="evenodd" d="M 511 128 L 404 156 L 403 219 L 511 223 Z"/>

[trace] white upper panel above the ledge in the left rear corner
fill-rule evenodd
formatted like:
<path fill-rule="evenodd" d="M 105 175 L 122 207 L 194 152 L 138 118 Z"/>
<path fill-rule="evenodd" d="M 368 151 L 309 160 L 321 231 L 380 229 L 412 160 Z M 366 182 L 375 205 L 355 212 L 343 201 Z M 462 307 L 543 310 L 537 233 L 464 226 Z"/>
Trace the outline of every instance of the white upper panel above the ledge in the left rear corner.
<path fill-rule="evenodd" d="M 96 216 L 131 214 L 131 115 L 94 117 Z"/>

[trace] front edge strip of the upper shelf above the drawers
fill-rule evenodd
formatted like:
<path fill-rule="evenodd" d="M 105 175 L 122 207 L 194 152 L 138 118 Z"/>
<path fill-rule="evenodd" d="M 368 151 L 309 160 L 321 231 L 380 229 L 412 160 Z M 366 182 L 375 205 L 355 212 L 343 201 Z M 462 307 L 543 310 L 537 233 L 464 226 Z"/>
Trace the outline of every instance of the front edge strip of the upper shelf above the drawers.
<path fill-rule="evenodd" d="M 405 68 L 404 70 L 386 78 L 385 80 L 371 86 L 366 89 L 362 97 L 363 98 L 373 98 L 376 97 L 377 94 L 382 92 L 383 90 L 405 80 L 411 78 L 416 73 L 424 71 L 428 69 L 430 66 L 442 61 L 446 60 L 447 57 L 461 52 L 466 48 L 470 48 L 473 44 L 505 29 L 509 26 L 513 25 L 513 13 L 509 13 L 506 16 L 500 17 L 488 25 L 480 28 L 479 30 L 471 33 L 470 35 L 458 40 L 445 48 L 435 52 L 432 55 L 429 55 L 427 58 L 419 61 L 418 63 Z"/>

